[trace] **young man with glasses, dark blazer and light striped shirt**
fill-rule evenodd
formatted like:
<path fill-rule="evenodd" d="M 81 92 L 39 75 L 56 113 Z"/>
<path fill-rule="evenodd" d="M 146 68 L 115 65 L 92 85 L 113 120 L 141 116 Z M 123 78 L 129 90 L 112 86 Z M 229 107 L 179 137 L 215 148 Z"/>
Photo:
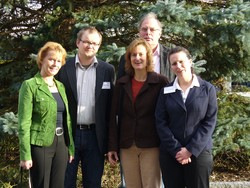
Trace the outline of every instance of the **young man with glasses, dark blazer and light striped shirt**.
<path fill-rule="evenodd" d="M 80 162 L 83 187 L 101 187 L 115 74 L 112 65 L 96 58 L 101 41 L 94 27 L 80 30 L 78 53 L 57 75 L 66 88 L 75 141 L 75 158 L 68 163 L 65 188 L 76 187 Z"/>

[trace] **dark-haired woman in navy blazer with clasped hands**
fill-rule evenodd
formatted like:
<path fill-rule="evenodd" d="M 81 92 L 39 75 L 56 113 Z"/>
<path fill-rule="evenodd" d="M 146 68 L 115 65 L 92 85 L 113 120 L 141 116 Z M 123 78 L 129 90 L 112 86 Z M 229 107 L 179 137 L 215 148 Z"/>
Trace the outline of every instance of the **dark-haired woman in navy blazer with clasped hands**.
<path fill-rule="evenodd" d="M 173 48 L 168 57 L 176 79 L 162 89 L 155 113 L 163 182 L 167 188 L 208 188 L 218 110 L 215 87 L 193 73 L 187 49 Z"/>

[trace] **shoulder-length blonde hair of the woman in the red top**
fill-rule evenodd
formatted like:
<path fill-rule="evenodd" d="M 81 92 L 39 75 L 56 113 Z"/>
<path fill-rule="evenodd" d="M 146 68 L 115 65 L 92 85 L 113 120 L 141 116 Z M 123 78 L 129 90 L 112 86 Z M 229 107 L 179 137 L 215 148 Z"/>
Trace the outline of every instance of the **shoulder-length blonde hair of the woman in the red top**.
<path fill-rule="evenodd" d="M 126 58 L 125 71 L 131 76 L 134 76 L 134 74 L 135 74 L 134 68 L 132 67 L 132 64 L 131 64 L 131 53 L 138 45 L 143 45 L 146 48 L 146 53 L 147 53 L 146 70 L 147 70 L 147 72 L 154 71 L 153 52 L 152 52 L 151 47 L 145 41 L 145 39 L 136 38 L 130 43 L 130 45 L 127 48 L 126 54 L 125 54 L 125 58 Z"/>

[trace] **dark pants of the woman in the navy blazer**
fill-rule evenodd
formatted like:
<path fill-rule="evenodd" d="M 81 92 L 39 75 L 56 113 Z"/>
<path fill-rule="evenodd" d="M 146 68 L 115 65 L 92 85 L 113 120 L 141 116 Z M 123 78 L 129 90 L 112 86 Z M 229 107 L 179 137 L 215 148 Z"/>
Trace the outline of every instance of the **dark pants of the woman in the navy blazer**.
<path fill-rule="evenodd" d="M 181 165 L 167 153 L 160 153 L 160 166 L 166 188 L 209 188 L 209 176 L 212 171 L 211 152 L 203 151 L 192 162 Z"/>

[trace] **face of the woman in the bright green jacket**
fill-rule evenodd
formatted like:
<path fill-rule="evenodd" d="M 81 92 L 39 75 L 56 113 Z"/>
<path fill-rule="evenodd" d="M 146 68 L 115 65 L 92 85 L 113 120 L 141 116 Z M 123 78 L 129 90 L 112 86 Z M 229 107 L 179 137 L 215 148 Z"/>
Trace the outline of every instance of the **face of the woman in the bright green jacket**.
<path fill-rule="evenodd" d="M 62 54 L 50 50 L 47 55 L 44 57 L 41 64 L 41 75 L 46 76 L 55 76 L 60 68 L 62 67 Z"/>

